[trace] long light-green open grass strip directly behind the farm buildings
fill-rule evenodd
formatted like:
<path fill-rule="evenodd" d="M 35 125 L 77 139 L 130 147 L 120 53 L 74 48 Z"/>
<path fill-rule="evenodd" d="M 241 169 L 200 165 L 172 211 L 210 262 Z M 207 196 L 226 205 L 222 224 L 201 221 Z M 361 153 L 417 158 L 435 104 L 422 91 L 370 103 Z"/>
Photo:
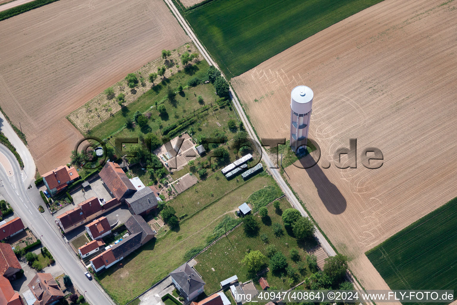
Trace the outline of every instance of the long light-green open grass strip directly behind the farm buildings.
<path fill-rule="evenodd" d="M 200 182 L 200 185 L 203 186 L 203 183 L 208 182 Z M 237 207 L 250 194 L 274 183 L 269 175 L 259 174 L 238 187 L 236 192 L 231 192 L 219 200 L 214 197 L 214 202 L 207 203 L 206 208 L 181 220 L 178 228 L 168 230 L 165 235 L 149 241 L 124 258 L 122 266 L 116 264 L 101 273 L 98 280 L 115 302 L 126 304 L 185 262 L 183 256 L 186 251 L 207 245 L 207 238 L 213 238 L 213 230 L 224 215 L 234 217 Z M 177 199 L 191 192 L 195 193 L 191 188 L 178 195 Z"/>

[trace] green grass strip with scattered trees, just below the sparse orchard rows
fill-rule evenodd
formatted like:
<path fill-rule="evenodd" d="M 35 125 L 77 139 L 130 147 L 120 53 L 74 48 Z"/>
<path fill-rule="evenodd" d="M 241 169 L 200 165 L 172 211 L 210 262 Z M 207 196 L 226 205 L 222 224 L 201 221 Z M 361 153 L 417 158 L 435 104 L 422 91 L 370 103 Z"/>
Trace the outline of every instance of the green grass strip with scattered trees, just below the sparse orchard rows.
<path fill-rule="evenodd" d="M 152 89 L 139 96 L 135 102 L 122 107 L 122 110 L 114 113 L 111 118 L 92 128 L 90 135 L 100 139 L 106 139 L 108 136 L 120 132 L 124 129 L 127 118 L 133 118 L 133 114 L 136 111 L 142 113 L 151 112 L 152 116 L 148 122 L 150 129 L 143 128 L 142 131 L 156 132 L 159 128 L 174 123 L 179 118 L 182 118 L 183 115 L 186 115 L 186 113 L 193 111 L 193 109 L 197 110 L 199 107 L 202 107 L 203 105 L 197 101 L 198 96 L 201 95 L 205 103 L 214 102 L 215 99 L 218 99 L 218 96 L 214 93 L 215 89 L 211 83 L 184 89 L 180 94 L 176 94 L 173 103 L 166 98 L 168 86 L 177 91 L 179 85 L 186 87 L 187 81 L 193 77 L 197 77 L 202 81 L 207 80 L 208 67 L 207 62 L 202 60 L 197 64 L 176 72 L 169 78 L 164 78 L 161 81 L 156 80 L 156 85 Z M 155 102 L 164 102 L 167 114 L 160 116 L 156 110 Z M 136 137 L 138 136 L 138 131 L 140 131 L 140 128 L 137 127 L 131 133 L 123 134 L 123 136 L 132 136 L 134 134 Z"/>

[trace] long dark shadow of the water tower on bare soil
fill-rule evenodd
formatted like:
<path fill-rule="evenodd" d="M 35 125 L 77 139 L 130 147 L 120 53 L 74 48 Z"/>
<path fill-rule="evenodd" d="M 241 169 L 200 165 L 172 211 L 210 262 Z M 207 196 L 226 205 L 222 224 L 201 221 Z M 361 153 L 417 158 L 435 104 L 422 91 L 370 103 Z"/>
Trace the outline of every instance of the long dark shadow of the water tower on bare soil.
<path fill-rule="evenodd" d="M 297 164 L 297 162 L 299 162 L 299 164 Z M 296 165 L 305 168 L 305 171 L 313 181 L 319 198 L 324 203 L 325 208 L 335 215 L 343 213 L 347 206 L 346 199 L 343 194 L 341 194 L 338 187 L 330 182 L 327 176 L 325 176 L 324 171 L 322 171 L 319 164 L 312 166 L 314 163 L 315 160 L 310 154 L 305 155 L 296 161 Z"/>

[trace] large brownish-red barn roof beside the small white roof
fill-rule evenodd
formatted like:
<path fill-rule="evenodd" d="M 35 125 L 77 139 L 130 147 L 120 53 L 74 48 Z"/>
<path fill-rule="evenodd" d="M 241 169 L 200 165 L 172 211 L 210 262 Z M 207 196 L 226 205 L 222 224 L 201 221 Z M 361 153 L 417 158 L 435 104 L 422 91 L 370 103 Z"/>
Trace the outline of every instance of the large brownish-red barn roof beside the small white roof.
<path fill-rule="evenodd" d="M 103 169 L 100 171 L 99 176 L 110 189 L 111 193 L 119 200 L 121 200 L 126 193 L 136 192 L 136 188 L 117 163 L 106 162 L 105 166 L 103 166 Z"/>

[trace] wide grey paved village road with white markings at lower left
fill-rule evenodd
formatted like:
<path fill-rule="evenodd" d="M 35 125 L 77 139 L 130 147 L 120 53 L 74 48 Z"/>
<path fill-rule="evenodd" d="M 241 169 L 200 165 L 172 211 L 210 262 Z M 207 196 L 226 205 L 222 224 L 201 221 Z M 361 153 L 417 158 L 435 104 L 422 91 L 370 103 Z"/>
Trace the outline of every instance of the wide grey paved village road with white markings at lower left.
<path fill-rule="evenodd" d="M 70 276 L 76 288 L 78 288 L 80 292 L 86 291 L 85 297 L 91 304 L 114 305 L 111 298 L 95 281 L 89 281 L 85 277 L 85 268 L 77 260 L 69 245 L 67 245 L 61 235 L 58 234 L 58 230 L 56 230 L 57 226 L 53 224 L 53 219 L 51 220 L 51 224 L 49 224 L 44 218 L 45 216 L 50 216 L 49 213 L 46 211 L 41 214 L 38 211 L 37 207 L 42 204 L 43 201 L 39 194 L 37 194 L 38 191 L 35 187 L 26 191 L 24 185 L 21 183 L 23 172 L 21 172 L 19 163 L 14 155 L 1 144 L 0 152 L 5 155 L 7 159 L 6 161 L 3 160 L 3 162 L 9 163 L 6 164 L 5 167 L 11 167 L 12 169 L 10 174 L 5 171 L 4 166 L 0 166 L 0 193 L 5 197 L 5 200 L 11 204 L 11 207 L 43 242 L 43 245 L 48 247 L 55 258 L 56 263 L 58 263 L 62 270 Z M 29 198 L 29 194 L 33 195 L 33 201 Z"/>

